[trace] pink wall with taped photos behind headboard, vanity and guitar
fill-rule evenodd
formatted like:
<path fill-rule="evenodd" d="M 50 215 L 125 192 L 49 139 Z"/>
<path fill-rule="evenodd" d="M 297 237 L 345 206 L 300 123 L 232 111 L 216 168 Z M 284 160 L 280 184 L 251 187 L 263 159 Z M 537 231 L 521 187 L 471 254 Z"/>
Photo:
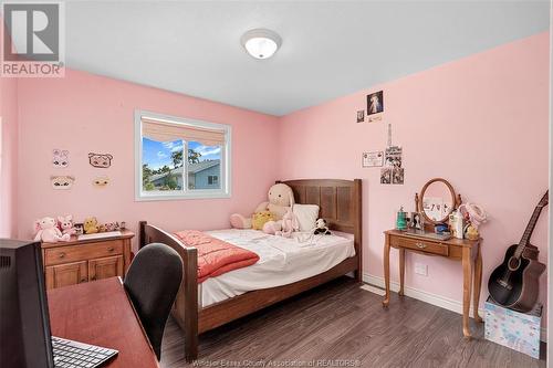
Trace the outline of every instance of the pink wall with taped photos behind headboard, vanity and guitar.
<path fill-rule="evenodd" d="M 430 178 L 447 178 L 465 201 L 490 212 L 482 228 L 486 284 L 547 188 L 547 38 L 541 33 L 285 116 L 280 177 L 362 178 L 365 272 L 380 277 L 383 231 L 394 228 L 395 212 L 400 206 L 413 211 L 415 192 Z M 367 93 L 379 90 L 383 122 L 356 124 Z M 404 148 L 403 186 L 380 185 L 378 168 L 361 167 L 363 151 L 385 148 L 388 123 L 393 143 Z M 544 211 L 532 238 L 542 262 L 547 257 L 546 217 Z M 393 252 L 392 278 L 397 281 Z M 428 264 L 428 277 L 414 273 L 415 262 Z M 409 254 L 406 285 L 461 301 L 461 265 Z M 541 286 L 546 301 L 545 276 Z"/>

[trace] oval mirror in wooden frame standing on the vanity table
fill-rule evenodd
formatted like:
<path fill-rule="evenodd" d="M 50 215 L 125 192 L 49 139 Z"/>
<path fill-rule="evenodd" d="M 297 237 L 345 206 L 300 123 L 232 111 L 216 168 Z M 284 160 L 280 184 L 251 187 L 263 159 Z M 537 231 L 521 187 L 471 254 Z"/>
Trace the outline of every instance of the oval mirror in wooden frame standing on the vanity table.
<path fill-rule="evenodd" d="M 441 178 L 428 181 L 420 192 L 420 211 L 431 223 L 447 222 L 456 206 L 453 187 Z"/>

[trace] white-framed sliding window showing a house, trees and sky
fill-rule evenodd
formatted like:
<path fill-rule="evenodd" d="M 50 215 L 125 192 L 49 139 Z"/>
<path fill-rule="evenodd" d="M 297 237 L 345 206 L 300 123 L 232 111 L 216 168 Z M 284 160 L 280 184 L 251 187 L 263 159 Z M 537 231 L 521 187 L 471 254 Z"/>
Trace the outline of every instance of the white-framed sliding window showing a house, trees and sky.
<path fill-rule="evenodd" d="M 142 119 L 139 124 L 140 197 L 226 192 L 228 130 L 153 119 Z"/>

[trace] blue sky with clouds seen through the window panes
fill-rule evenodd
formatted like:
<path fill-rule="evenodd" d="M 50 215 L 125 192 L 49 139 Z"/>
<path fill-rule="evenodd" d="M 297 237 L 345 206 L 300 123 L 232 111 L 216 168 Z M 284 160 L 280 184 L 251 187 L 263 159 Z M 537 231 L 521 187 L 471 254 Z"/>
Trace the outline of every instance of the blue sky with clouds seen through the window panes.
<path fill-rule="evenodd" d="M 143 137 L 143 164 L 147 164 L 153 170 L 164 165 L 173 168 L 171 153 L 182 150 L 182 140 L 156 141 Z M 200 161 L 221 158 L 221 147 L 204 146 L 197 141 L 188 143 L 188 147 L 201 154 Z M 188 157 L 185 155 L 185 157 Z"/>

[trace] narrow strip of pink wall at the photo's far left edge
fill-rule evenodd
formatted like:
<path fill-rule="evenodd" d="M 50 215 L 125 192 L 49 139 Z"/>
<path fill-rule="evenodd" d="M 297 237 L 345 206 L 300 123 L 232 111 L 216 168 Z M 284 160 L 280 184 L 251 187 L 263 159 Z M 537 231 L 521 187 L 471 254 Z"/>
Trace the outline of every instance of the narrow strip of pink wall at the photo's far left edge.
<path fill-rule="evenodd" d="M 0 19 L 1 21 L 1 19 Z M 18 235 L 18 81 L 0 78 L 0 238 Z"/>

